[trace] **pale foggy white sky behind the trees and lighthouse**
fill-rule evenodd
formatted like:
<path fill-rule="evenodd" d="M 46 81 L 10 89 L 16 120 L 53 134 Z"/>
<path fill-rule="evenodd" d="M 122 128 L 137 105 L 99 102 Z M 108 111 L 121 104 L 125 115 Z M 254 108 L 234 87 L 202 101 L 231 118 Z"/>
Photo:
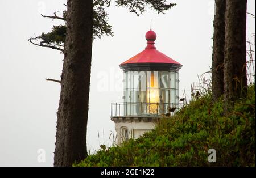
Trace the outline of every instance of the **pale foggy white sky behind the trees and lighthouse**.
<path fill-rule="evenodd" d="M 65 2 L 0 1 L 0 166 L 53 166 L 60 85 L 45 78 L 60 79 L 63 54 L 26 40 L 59 24 L 40 13 L 61 12 Z M 150 19 L 158 36 L 156 48 L 183 65 L 180 97 L 198 82 L 197 74 L 210 70 L 214 0 L 171 2 L 177 6 L 164 15 L 150 10 L 137 17 L 114 2 L 108 8 L 114 37 L 93 41 L 87 137 L 91 152 L 110 142 L 110 103 L 122 101 L 119 64 L 145 48 Z M 255 14 L 254 0 L 248 0 L 247 12 Z M 253 32 L 255 19 L 248 16 L 247 38 Z M 38 162 L 38 149 L 46 151 L 45 163 Z"/>

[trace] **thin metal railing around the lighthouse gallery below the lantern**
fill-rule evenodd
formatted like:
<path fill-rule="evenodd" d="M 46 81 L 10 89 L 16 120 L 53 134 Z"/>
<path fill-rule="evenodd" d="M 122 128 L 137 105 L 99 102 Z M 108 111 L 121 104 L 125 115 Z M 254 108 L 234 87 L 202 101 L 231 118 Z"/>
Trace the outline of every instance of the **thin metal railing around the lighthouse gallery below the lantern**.
<path fill-rule="evenodd" d="M 144 103 L 123 102 L 112 103 L 110 117 L 119 116 L 165 116 L 173 115 L 174 112 L 183 107 L 183 103 Z M 174 111 L 171 111 L 174 110 Z"/>

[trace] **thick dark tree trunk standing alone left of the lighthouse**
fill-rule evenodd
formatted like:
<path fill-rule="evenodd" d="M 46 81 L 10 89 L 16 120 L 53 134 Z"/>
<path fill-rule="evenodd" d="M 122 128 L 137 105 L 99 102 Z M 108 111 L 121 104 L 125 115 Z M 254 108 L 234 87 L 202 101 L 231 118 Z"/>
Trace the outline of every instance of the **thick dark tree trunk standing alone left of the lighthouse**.
<path fill-rule="evenodd" d="M 93 0 L 68 0 L 67 37 L 57 111 L 54 166 L 86 158 L 93 38 Z"/>

